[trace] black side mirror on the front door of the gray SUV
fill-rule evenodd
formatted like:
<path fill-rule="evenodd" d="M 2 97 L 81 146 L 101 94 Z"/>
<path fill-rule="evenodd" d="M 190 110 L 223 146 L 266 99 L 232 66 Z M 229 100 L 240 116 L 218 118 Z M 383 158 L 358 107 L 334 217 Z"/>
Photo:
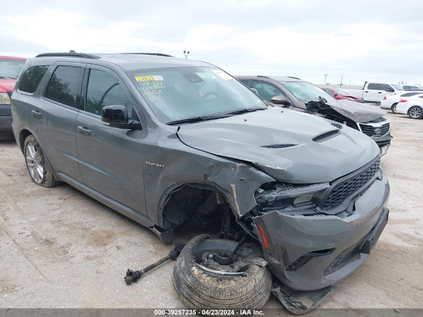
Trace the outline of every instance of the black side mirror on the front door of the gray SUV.
<path fill-rule="evenodd" d="M 103 107 L 101 111 L 101 122 L 112 128 L 141 130 L 141 123 L 128 119 L 128 110 L 122 105 Z"/>

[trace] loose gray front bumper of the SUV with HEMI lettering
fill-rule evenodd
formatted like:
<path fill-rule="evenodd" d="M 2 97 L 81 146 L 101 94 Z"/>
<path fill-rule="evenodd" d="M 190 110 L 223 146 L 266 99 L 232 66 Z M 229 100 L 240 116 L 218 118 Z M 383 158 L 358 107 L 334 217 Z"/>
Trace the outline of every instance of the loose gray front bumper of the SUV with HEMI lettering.
<path fill-rule="evenodd" d="M 276 277 L 290 288 L 315 290 L 351 274 L 367 257 L 366 239 L 388 211 L 389 183 L 382 175 L 355 201 L 354 213 L 344 218 L 287 215 L 278 210 L 254 217 L 253 226 Z"/>

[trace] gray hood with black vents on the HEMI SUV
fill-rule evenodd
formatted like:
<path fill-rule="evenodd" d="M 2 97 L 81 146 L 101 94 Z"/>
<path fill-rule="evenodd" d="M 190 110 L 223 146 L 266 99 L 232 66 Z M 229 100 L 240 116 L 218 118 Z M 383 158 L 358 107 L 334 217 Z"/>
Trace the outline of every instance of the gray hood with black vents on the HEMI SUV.
<path fill-rule="evenodd" d="M 332 181 L 374 159 L 379 149 L 363 133 L 338 129 L 314 115 L 273 108 L 217 120 L 181 125 L 186 145 L 219 156 L 248 161 L 276 180 L 290 183 Z M 336 136 L 313 138 L 335 131 Z M 294 145 L 282 148 L 263 146 Z"/>

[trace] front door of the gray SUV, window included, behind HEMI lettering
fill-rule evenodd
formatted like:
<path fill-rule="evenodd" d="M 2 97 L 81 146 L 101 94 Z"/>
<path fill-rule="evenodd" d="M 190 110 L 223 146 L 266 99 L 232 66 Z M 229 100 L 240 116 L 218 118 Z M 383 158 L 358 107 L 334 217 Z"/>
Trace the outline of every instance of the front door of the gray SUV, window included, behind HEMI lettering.
<path fill-rule="evenodd" d="M 146 215 L 142 145 L 147 129 L 118 129 L 101 122 L 102 108 L 111 105 L 126 106 L 130 119 L 142 122 L 135 100 L 115 72 L 97 65 L 87 66 L 83 95 L 76 134 L 84 184 Z"/>

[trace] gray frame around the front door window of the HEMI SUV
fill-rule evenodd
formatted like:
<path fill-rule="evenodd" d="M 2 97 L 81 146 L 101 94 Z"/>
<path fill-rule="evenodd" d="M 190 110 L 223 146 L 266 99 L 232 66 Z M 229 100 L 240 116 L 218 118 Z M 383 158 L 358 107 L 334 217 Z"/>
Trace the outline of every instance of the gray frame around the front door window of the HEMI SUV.
<path fill-rule="evenodd" d="M 142 111 L 140 110 L 140 106 L 136 102 L 136 99 L 132 96 L 131 91 L 125 85 L 122 78 L 114 70 L 112 70 L 108 67 L 104 67 L 104 66 L 97 65 L 97 64 L 86 64 L 86 65 L 87 66 L 86 66 L 85 71 L 84 71 L 83 80 L 81 82 L 81 97 L 79 99 L 80 100 L 80 112 L 84 113 L 88 116 L 91 116 L 93 118 L 97 118 L 97 119 L 101 120 L 101 116 L 85 110 L 85 102 L 86 102 L 86 98 L 87 98 L 88 79 L 89 79 L 89 76 L 90 76 L 90 70 L 95 69 L 95 70 L 98 70 L 98 71 L 106 72 L 106 73 L 110 74 L 111 76 L 113 76 L 113 78 L 115 78 L 117 80 L 117 82 L 121 86 L 122 90 L 124 91 L 124 93 L 126 94 L 128 99 L 132 102 L 133 109 L 135 109 L 135 112 L 137 113 L 137 116 L 138 116 L 138 121 L 142 122 L 141 120 L 142 120 L 142 118 L 144 118 L 144 115 L 143 115 Z M 132 120 L 135 120 L 135 119 L 132 118 Z"/>

